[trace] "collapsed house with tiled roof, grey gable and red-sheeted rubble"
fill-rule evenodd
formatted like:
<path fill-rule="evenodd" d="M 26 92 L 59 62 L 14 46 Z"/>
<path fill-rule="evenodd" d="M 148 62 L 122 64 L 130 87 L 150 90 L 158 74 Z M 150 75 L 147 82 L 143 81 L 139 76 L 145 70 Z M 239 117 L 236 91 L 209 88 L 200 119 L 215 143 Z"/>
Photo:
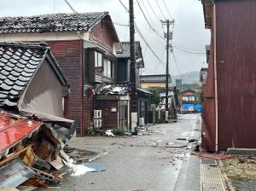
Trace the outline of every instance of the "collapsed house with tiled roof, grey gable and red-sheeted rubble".
<path fill-rule="evenodd" d="M 0 188 L 55 179 L 44 170 L 64 165 L 76 128 L 63 117 L 63 92 L 67 80 L 47 44 L 0 43 Z"/>

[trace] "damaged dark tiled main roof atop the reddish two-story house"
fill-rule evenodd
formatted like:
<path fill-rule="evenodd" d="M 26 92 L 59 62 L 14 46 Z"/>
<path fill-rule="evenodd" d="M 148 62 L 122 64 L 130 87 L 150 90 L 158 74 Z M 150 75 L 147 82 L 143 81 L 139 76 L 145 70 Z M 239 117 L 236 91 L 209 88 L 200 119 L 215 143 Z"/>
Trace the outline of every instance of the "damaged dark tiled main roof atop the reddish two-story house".
<path fill-rule="evenodd" d="M 2 17 L 0 33 L 88 31 L 106 15 L 108 12 Z"/>

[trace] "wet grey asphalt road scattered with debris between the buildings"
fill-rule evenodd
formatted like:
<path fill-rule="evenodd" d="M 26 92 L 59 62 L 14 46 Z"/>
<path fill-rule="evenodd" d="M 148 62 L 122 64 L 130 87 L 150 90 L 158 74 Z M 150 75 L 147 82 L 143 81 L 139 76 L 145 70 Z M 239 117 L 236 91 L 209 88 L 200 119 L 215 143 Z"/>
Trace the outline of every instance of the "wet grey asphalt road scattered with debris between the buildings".
<path fill-rule="evenodd" d="M 177 123 L 150 126 L 148 136 L 73 138 L 70 147 L 100 153 L 106 171 L 67 176 L 57 190 L 171 191 L 200 190 L 199 159 L 190 156 L 188 141 L 197 115 Z"/>

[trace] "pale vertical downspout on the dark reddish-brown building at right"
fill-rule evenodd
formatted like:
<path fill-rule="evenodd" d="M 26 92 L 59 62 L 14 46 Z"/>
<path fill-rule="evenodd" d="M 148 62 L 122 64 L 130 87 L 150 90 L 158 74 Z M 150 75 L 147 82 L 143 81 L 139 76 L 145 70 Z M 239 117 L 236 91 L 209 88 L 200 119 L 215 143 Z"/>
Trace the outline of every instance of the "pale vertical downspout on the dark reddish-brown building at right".
<path fill-rule="evenodd" d="M 218 152 L 218 76 L 217 76 L 217 52 L 216 52 L 216 5 L 213 4 L 213 67 L 214 67 L 214 99 L 215 99 L 215 151 Z"/>

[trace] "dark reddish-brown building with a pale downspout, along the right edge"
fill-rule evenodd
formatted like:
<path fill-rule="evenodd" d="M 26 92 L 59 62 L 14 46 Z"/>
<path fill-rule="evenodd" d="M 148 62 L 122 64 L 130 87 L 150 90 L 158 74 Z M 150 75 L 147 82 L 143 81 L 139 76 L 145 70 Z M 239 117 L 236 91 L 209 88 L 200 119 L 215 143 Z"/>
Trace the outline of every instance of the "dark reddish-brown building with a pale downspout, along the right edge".
<path fill-rule="evenodd" d="M 203 147 L 255 148 L 256 1 L 201 0 L 212 32 L 203 113 Z"/>

